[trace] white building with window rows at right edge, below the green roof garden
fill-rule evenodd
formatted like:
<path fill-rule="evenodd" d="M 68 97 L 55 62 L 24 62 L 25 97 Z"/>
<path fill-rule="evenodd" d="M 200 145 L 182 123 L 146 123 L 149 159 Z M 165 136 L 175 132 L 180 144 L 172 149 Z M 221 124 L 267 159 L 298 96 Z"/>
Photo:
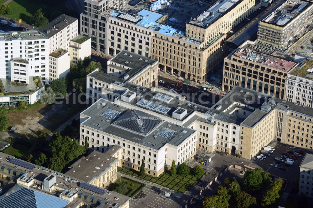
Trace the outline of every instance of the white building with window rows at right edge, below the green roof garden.
<path fill-rule="evenodd" d="M 308 69 L 306 76 L 298 76 L 296 73 L 292 73 L 293 71 L 289 72 L 286 80 L 285 100 L 313 107 L 312 69 Z"/>

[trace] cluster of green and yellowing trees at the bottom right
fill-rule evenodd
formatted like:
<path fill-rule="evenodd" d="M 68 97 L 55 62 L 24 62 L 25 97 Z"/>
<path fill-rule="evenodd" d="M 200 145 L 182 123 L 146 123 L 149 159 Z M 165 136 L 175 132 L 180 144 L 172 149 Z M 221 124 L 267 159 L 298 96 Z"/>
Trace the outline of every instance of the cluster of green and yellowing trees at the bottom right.
<path fill-rule="evenodd" d="M 260 191 L 262 188 L 266 188 L 271 184 L 269 190 L 262 196 L 262 201 L 260 203 L 262 206 L 269 206 L 280 197 L 279 191 L 282 188 L 282 179 L 279 178 L 272 182 L 267 172 L 264 172 L 261 169 L 254 169 L 252 171 L 246 171 L 243 184 L 247 190 L 252 191 L 253 193 Z M 225 178 L 224 186 L 225 187 L 218 187 L 216 195 L 205 197 L 203 207 L 228 208 L 231 204 L 231 207 L 235 208 L 248 208 L 257 204 L 255 197 L 241 190 L 238 181 L 231 181 L 229 178 Z"/>

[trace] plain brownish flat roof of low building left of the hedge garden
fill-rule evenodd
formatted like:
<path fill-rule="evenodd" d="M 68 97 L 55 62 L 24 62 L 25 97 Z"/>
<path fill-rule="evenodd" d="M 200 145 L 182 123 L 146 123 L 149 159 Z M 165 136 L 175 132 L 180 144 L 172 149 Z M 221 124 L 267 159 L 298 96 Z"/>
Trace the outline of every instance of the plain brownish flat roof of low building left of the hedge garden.
<path fill-rule="evenodd" d="M 94 180 L 94 177 L 99 177 L 102 172 L 106 171 L 117 158 L 112 157 L 121 148 L 119 145 L 114 145 L 105 153 L 100 151 L 92 151 L 88 156 L 82 156 L 70 167 L 69 171 L 65 173 L 73 178 L 89 183 Z M 87 177 L 88 176 L 88 177 Z"/>

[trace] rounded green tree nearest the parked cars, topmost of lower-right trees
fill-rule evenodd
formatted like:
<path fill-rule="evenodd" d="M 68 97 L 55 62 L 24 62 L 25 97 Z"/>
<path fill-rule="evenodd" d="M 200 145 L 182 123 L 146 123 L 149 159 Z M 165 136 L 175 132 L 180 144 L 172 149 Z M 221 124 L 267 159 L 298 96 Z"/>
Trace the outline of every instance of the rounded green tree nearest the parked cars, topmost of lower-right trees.
<path fill-rule="evenodd" d="M 244 174 L 244 186 L 250 191 L 258 191 L 263 186 L 267 186 L 271 181 L 269 174 L 256 168 L 252 171 L 246 171 Z"/>

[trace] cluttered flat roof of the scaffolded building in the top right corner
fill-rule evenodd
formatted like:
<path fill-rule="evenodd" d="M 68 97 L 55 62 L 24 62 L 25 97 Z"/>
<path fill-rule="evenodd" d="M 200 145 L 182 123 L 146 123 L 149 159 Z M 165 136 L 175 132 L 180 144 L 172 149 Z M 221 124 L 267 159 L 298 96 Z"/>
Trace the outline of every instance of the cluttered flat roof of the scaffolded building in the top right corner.
<path fill-rule="evenodd" d="M 293 18 L 307 9 L 312 2 L 288 0 L 283 7 L 276 9 L 263 21 L 274 25 L 285 26 Z"/>

